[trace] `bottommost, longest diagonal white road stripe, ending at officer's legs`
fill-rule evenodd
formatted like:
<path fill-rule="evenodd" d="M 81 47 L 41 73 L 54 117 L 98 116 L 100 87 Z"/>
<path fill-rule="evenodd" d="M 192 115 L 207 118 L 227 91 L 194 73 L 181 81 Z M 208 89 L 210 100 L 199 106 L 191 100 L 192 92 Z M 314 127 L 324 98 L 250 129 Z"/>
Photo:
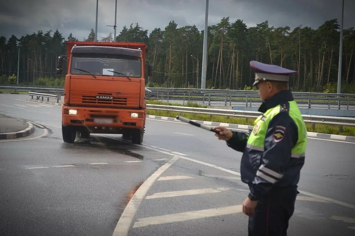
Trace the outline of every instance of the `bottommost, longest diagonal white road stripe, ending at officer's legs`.
<path fill-rule="evenodd" d="M 215 217 L 219 215 L 235 214 L 242 212 L 242 207 L 243 205 L 236 205 L 229 207 L 206 209 L 201 211 L 183 212 L 177 214 L 141 218 L 137 219 L 137 221 L 133 225 L 133 228 L 143 227 L 147 225 L 158 225 L 207 217 Z"/>

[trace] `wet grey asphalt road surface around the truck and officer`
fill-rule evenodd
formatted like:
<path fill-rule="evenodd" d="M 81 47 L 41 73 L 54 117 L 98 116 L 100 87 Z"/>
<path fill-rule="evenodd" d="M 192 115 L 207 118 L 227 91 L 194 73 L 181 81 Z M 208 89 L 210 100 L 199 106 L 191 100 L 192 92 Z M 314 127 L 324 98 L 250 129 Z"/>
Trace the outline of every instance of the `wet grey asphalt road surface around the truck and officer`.
<path fill-rule="evenodd" d="M 112 235 L 134 192 L 172 152 L 195 161 L 178 159 L 162 173 L 167 179 L 153 183 L 129 235 L 247 235 L 247 217 L 222 209 L 241 205 L 246 185 L 238 175 L 211 167 L 239 172 L 241 153 L 212 133 L 147 120 L 141 146 L 120 135 L 65 144 L 60 107 L 24 101 L 27 97 L 0 94 L 2 114 L 39 124 L 27 140 L 0 142 L 1 235 Z M 355 144 L 308 139 L 299 189 L 322 198 L 299 194 L 289 235 L 355 234 L 354 150 Z M 191 192 L 196 189 L 199 194 Z M 220 215 L 209 215 L 216 208 Z M 187 217 L 203 210 L 208 217 Z"/>

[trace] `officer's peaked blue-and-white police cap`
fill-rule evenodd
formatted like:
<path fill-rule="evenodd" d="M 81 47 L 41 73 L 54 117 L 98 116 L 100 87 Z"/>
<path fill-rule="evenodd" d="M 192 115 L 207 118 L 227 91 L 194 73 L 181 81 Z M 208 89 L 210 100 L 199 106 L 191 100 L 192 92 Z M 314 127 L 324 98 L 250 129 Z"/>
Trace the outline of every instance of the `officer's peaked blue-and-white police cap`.
<path fill-rule="evenodd" d="M 278 65 L 269 65 L 257 61 L 250 61 L 249 64 L 255 71 L 255 82 L 253 86 L 259 81 L 265 80 L 288 82 L 290 74 L 298 73 L 297 71 L 282 68 Z"/>

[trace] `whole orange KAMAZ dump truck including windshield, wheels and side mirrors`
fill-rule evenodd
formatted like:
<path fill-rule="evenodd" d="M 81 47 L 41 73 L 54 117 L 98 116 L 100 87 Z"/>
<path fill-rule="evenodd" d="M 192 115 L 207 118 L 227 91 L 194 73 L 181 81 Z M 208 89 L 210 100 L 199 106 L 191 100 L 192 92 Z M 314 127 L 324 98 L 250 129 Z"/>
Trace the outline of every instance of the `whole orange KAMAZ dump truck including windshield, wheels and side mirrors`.
<path fill-rule="evenodd" d="M 62 135 L 73 143 L 77 133 L 122 134 L 141 144 L 146 123 L 144 71 L 146 44 L 66 41 L 57 73 L 67 59 L 62 106 Z M 148 74 L 151 67 L 148 65 Z"/>

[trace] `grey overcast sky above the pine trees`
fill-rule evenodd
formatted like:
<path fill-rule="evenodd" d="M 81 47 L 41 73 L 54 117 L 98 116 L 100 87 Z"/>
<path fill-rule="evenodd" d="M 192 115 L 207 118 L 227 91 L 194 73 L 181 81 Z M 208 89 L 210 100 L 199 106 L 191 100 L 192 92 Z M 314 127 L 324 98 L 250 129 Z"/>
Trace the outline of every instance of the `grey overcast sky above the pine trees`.
<path fill-rule="evenodd" d="M 136 23 L 148 30 L 162 30 L 174 20 L 178 27 L 204 28 L 205 0 L 118 0 L 117 35 L 124 25 Z M 345 0 L 344 28 L 355 26 L 355 1 Z M 338 18 L 342 0 L 209 0 L 208 25 L 223 17 L 233 23 L 242 19 L 247 27 L 269 21 L 270 26 L 299 25 L 318 28 Z M 57 29 L 67 39 L 70 32 L 79 40 L 95 29 L 96 0 L 0 0 L 0 36 L 18 38 L 38 30 Z M 99 0 L 98 39 L 114 33 L 115 0 Z"/>

